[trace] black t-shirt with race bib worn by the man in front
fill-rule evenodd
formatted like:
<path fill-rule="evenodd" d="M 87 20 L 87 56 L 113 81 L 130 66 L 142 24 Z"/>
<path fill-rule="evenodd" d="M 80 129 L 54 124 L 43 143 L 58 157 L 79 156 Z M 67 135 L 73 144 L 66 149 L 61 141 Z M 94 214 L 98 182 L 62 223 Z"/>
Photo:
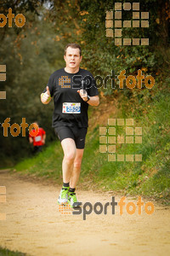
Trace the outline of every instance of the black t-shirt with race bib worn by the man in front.
<path fill-rule="evenodd" d="M 52 126 L 88 127 L 88 102 L 82 100 L 77 90 L 87 90 L 88 96 L 97 96 L 93 75 L 82 68 L 77 73 L 66 73 L 61 68 L 50 76 L 48 87 L 50 95 L 54 96 Z"/>

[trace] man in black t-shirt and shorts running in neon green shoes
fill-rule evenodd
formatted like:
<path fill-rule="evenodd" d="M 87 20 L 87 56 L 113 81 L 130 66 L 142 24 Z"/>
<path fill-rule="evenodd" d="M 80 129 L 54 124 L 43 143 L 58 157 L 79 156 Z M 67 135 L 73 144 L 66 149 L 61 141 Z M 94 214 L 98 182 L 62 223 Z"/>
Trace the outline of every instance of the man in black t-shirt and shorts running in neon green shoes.
<path fill-rule="evenodd" d="M 48 104 L 54 96 L 53 127 L 64 151 L 63 187 L 58 203 L 79 207 L 82 203 L 77 201 L 75 189 L 88 131 L 88 104 L 98 106 L 99 93 L 92 74 L 80 68 L 80 45 L 67 44 L 64 59 L 65 68 L 50 76 L 41 101 Z"/>

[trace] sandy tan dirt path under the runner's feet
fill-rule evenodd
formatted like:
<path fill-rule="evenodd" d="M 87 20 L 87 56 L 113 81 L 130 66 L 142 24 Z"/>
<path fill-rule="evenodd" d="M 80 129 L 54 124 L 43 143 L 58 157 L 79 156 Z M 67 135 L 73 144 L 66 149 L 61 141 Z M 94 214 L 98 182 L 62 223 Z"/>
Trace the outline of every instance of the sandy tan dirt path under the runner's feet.
<path fill-rule="evenodd" d="M 6 220 L 0 220 L 0 246 L 30 255 L 170 255 L 170 208 L 155 206 L 147 215 L 142 209 L 133 215 L 123 207 L 122 216 L 92 212 L 81 215 L 59 212 L 56 198 L 60 187 L 32 183 L 8 172 L 0 172 L 0 186 L 6 186 L 7 202 L 0 204 Z M 79 188 L 80 189 L 80 188 Z M 92 204 L 119 201 L 121 196 L 77 189 L 78 198 Z M 126 202 L 137 202 L 127 198 Z M 144 201 L 146 203 L 147 201 Z M 88 210 L 88 207 L 87 207 Z"/>

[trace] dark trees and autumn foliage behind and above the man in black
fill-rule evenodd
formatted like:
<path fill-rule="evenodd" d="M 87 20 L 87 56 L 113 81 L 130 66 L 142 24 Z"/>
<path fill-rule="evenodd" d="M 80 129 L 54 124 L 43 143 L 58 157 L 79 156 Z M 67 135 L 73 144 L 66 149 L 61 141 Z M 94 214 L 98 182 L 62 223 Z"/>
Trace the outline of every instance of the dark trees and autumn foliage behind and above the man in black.
<path fill-rule="evenodd" d="M 34 120 L 48 131 L 48 143 L 56 139 L 51 127 L 53 104 L 43 106 L 40 94 L 48 78 L 56 69 L 65 67 L 63 59 L 65 44 L 82 45 L 82 68 L 105 77 L 114 70 L 119 74 L 137 75 L 138 69 L 144 76 L 150 74 L 156 79 L 155 90 L 119 90 L 103 87 L 100 95 L 122 96 L 133 100 L 133 108 L 144 111 L 144 102 L 150 102 L 158 90 L 169 94 L 170 67 L 170 2 L 168 0 L 140 0 L 140 11 L 149 11 L 149 28 L 123 29 L 124 38 L 150 38 L 149 46 L 116 46 L 113 38 L 105 36 L 105 12 L 114 9 L 114 3 L 126 1 L 101 0 L 12 0 L 0 1 L 0 13 L 8 15 L 12 8 L 14 15 L 26 16 L 22 28 L 0 27 L 0 64 L 7 66 L 7 80 L 0 82 L 6 90 L 7 99 L 0 100 L 0 123 L 10 118 L 10 125 L 20 125 L 22 118 L 31 125 Z M 133 1 L 128 0 L 128 3 Z M 122 19 L 132 20 L 132 11 L 123 12 Z M 0 20 L 1 21 L 1 20 Z M 109 83 L 108 83 L 109 84 Z M 123 100 L 125 99 L 123 98 Z M 169 99 L 169 97 L 168 97 Z M 123 103 L 124 104 L 124 103 Z M 124 105 L 123 105 L 124 106 Z M 143 107 L 141 107 L 143 106 Z M 124 108 L 127 108 L 126 106 Z M 27 132 L 28 134 L 28 132 Z M 0 127 L 1 165 L 14 162 L 31 154 L 27 137 L 3 137 Z"/>

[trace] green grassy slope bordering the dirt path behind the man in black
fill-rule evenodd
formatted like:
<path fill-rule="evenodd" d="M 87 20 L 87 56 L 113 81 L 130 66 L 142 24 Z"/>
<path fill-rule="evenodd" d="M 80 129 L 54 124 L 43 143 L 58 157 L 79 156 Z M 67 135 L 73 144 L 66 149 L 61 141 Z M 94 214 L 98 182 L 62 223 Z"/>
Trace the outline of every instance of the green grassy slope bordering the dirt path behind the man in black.
<path fill-rule="evenodd" d="M 133 101 L 135 108 L 132 107 Z M 124 143 L 116 147 L 118 154 L 142 154 L 142 162 L 108 162 L 108 155 L 99 153 L 99 124 L 96 124 L 93 131 L 88 131 L 80 183 L 88 182 L 90 186 L 124 194 L 149 195 L 169 203 L 170 99 L 167 91 L 153 91 L 150 99 L 150 93 L 144 90 L 140 101 L 132 98 L 129 102 L 122 102 L 121 112 L 114 118 L 133 118 L 134 126 L 143 128 L 142 144 Z M 124 132 L 117 126 L 116 131 L 120 135 Z M 36 157 L 20 162 L 15 169 L 61 183 L 62 158 L 60 143 L 52 143 Z"/>

